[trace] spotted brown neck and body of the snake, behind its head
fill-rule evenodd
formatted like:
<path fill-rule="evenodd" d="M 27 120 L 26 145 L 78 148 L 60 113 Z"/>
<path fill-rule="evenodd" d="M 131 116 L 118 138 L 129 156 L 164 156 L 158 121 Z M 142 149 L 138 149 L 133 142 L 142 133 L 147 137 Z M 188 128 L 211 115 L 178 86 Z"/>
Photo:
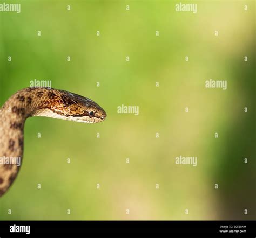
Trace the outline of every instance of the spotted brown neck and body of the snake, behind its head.
<path fill-rule="evenodd" d="M 44 88 L 19 90 L 0 110 L 0 197 L 11 186 L 21 166 L 25 120 L 42 107 L 46 93 L 49 90 Z"/>

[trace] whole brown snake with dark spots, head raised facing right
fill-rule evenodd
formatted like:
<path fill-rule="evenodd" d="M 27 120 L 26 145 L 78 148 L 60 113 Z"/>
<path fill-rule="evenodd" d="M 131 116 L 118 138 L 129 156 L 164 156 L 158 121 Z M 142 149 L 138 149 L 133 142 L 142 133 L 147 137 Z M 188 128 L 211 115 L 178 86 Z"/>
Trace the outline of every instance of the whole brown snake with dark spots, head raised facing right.
<path fill-rule="evenodd" d="M 106 112 L 91 99 L 65 90 L 28 87 L 18 90 L 0 109 L 0 197 L 9 190 L 22 164 L 24 124 L 32 116 L 98 123 Z"/>

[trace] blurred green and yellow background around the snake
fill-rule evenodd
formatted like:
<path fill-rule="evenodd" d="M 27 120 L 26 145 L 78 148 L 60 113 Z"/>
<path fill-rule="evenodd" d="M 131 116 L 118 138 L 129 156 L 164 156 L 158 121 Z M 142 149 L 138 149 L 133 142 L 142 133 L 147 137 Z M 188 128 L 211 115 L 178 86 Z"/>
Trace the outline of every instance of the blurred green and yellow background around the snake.
<path fill-rule="evenodd" d="M 255 219 L 254 1 L 182 1 L 196 14 L 175 11 L 180 1 L 3 2 L 21 13 L 0 12 L 1 106 L 31 80 L 51 80 L 107 118 L 29 118 L 0 219 Z M 208 79 L 227 90 L 205 88 Z M 118 114 L 122 104 L 139 115 Z M 197 166 L 176 165 L 180 155 Z"/>

